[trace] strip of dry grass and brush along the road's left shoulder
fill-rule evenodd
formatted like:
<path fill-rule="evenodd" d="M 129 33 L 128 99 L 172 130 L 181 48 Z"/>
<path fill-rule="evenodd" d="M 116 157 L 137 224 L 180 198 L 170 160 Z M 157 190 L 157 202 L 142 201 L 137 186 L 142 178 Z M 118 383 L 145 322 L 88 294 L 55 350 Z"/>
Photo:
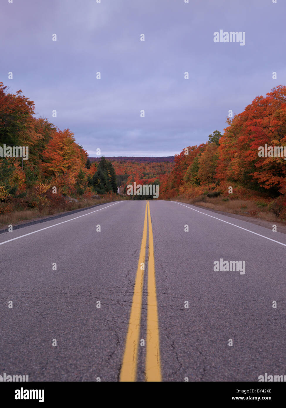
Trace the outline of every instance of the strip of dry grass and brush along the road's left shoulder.
<path fill-rule="evenodd" d="M 129 200 L 129 197 L 119 196 L 118 200 Z M 39 210 L 24 210 L 24 211 L 12 211 L 8 214 L 0 215 L 0 226 L 8 228 L 9 224 L 16 225 L 20 224 L 24 220 L 34 220 L 40 217 L 47 217 L 49 215 L 60 214 L 62 212 L 79 210 L 80 208 L 91 207 L 96 204 L 104 204 L 107 202 L 114 201 L 112 198 L 99 198 L 99 199 L 89 199 L 81 200 L 79 202 L 69 202 L 66 204 L 64 211 L 61 211 L 59 208 L 44 208 L 42 211 Z"/>

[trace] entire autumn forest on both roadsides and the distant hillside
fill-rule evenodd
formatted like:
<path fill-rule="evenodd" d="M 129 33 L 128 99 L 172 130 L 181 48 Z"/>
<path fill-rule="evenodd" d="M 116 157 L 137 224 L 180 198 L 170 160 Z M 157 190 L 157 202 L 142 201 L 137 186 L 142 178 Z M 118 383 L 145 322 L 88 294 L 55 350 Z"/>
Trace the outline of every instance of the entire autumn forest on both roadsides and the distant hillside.
<path fill-rule="evenodd" d="M 133 182 L 159 184 L 159 199 L 211 207 L 216 198 L 224 209 L 237 200 L 247 215 L 267 209 L 286 217 L 286 161 L 258 154 L 261 146 L 286 146 L 286 86 L 257 96 L 242 113 L 227 118 L 223 133 L 213 131 L 205 143 L 183 148 L 174 160 L 89 158 L 69 129 L 35 118 L 34 109 L 21 90 L 11 94 L 0 82 L 0 217 L 31 210 L 52 214 L 94 204 L 90 200 L 118 200 L 118 188 L 120 199 L 128 199 L 126 186 Z M 27 146 L 29 159 L 12 157 L 6 146 Z M 254 204 L 247 208 L 245 200 Z"/>

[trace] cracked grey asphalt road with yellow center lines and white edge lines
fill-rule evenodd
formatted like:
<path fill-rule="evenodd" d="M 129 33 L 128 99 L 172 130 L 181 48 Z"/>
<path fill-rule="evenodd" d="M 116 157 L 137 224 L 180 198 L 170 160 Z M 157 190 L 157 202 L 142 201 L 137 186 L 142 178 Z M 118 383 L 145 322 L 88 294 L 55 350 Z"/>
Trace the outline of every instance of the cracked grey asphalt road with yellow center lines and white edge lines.
<path fill-rule="evenodd" d="M 0 375 L 286 374 L 286 235 L 170 201 L 149 202 L 150 220 L 147 207 L 103 204 L 0 234 Z M 214 271 L 221 258 L 244 261 L 245 273 Z"/>

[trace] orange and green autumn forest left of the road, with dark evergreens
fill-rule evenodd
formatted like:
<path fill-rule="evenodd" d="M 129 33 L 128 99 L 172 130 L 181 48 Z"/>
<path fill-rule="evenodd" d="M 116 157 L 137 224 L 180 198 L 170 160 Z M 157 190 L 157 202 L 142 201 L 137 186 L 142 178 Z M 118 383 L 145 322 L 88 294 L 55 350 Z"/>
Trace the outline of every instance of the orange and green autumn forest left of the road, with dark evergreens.
<path fill-rule="evenodd" d="M 114 200 L 111 162 L 102 157 L 91 163 L 69 129 L 35 118 L 34 109 L 21 90 L 11 94 L 0 82 L 0 217 L 14 212 L 18 217 L 9 219 L 17 220 L 81 208 L 92 199 Z M 13 157 L 12 146 L 27 146 L 29 156 Z"/>

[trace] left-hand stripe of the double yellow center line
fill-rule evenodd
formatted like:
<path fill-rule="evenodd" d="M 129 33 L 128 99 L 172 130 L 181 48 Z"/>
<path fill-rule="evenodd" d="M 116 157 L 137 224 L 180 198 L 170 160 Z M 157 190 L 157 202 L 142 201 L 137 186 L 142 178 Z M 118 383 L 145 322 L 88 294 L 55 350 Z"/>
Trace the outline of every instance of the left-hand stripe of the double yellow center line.
<path fill-rule="evenodd" d="M 125 351 L 123 356 L 122 368 L 120 372 L 120 381 L 136 381 L 137 354 L 142 308 L 142 290 L 144 279 L 144 269 L 142 269 L 142 264 L 145 265 L 145 253 L 147 241 L 147 207 L 148 202 L 146 202 L 145 208 L 143 237 L 137 266 L 137 273 L 135 278 L 129 326 L 126 335 Z"/>

